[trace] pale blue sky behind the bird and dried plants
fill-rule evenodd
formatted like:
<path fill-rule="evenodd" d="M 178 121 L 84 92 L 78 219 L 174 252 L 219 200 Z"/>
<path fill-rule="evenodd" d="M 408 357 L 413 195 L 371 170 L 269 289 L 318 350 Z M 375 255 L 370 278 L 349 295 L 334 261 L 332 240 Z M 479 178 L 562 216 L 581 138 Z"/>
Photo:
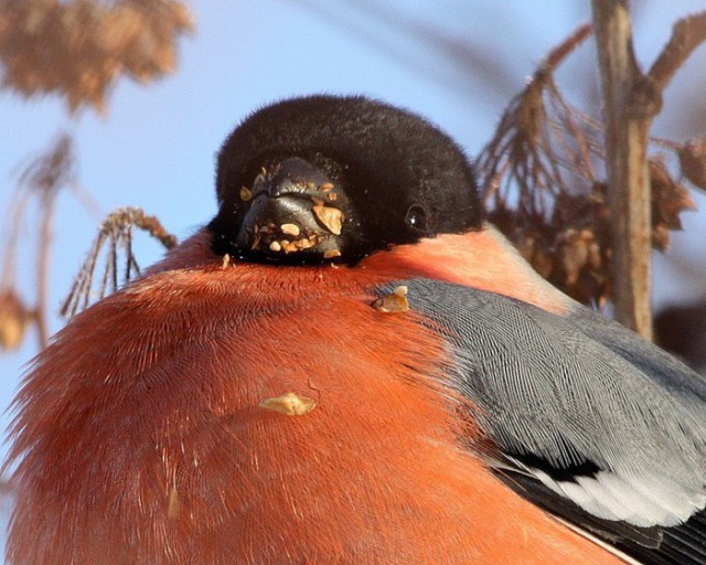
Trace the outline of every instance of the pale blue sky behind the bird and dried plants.
<path fill-rule="evenodd" d="M 24 102 L 1 92 L 0 204 L 7 207 L 18 162 L 67 130 L 76 138 L 81 183 L 104 214 L 120 205 L 141 206 L 159 213 L 169 230 L 184 237 L 215 213 L 214 154 L 238 120 L 265 103 L 317 92 L 363 93 L 406 106 L 439 124 L 474 154 L 490 139 L 510 92 L 491 95 L 482 81 L 473 81 L 472 71 L 435 55 L 409 30 L 431 26 L 459 41 L 470 39 L 495 57 L 501 82 L 516 92 L 546 51 L 590 15 L 588 0 L 365 4 L 393 13 L 393 23 L 382 23 L 350 8 L 355 4 L 193 1 L 197 29 L 180 43 L 176 73 L 147 88 L 120 81 L 105 117 L 84 110 L 69 118 L 55 97 Z M 652 61 L 671 22 L 694 4 L 650 2 L 653 8 L 635 22 L 643 61 Z M 590 60 L 592 49 L 587 44 L 578 56 Z M 692 64 L 691 74 L 684 72 L 681 81 L 706 84 L 703 53 L 698 61 L 700 65 Z M 702 217 L 703 213 L 691 214 L 687 228 L 704 241 Z M 68 193 L 60 199 L 56 223 L 54 311 L 96 233 L 96 221 Z M 33 237 L 29 228 L 23 234 Z M 141 245 L 138 258 L 145 266 L 159 253 L 156 245 Z M 31 286 L 26 273 L 21 284 Z M 678 297 L 678 280 L 661 275 L 657 294 L 660 299 Z M 54 320 L 53 329 L 58 327 Z M 0 408 L 9 404 L 20 366 L 34 353 L 35 343 L 31 335 L 18 353 L 0 356 Z M 6 414 L 0 428 L 7 423 Z"/>

